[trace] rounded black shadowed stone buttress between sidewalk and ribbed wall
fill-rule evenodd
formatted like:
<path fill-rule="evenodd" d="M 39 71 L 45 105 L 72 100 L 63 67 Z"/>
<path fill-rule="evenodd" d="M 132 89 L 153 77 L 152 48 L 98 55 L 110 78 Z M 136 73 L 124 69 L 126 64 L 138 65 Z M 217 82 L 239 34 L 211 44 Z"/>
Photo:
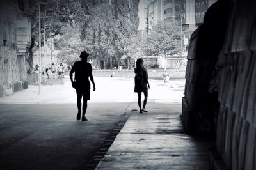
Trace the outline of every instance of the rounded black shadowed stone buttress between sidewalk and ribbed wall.
<path fill-rule="evenodd" d="M 228 5 L 214 3 L 205 13 L 204 23 L 191 35 L 186 68 L 182 117 L 186 132 L 216 133 L 220 65 L 218 54 L 223 47 L 228 22 Z"/>

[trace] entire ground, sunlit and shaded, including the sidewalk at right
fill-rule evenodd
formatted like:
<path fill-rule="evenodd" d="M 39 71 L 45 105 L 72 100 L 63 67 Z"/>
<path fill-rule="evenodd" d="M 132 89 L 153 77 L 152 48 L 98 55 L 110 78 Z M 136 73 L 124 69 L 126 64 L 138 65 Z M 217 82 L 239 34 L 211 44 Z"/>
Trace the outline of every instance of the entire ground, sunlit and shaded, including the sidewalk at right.
<path fill-rule="evenodd" d="M 88 121 L 76 120 L 67 77 L 62 86 L 42 86 L 41 95 L 29 86 L 0 98 L 0 169 L 208 169 L 213 141 L 183 132 L 184 80 L 150 80 L 145 114 L 133 79 L 95 83 Z"/>

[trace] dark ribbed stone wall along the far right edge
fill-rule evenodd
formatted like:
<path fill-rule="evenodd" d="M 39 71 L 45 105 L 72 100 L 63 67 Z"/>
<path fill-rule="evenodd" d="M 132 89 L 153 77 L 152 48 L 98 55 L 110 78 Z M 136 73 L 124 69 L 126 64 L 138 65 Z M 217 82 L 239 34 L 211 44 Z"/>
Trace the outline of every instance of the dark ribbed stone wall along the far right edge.
<path fill-rule="evenodd" d="M 228 169 L 256 169 L 256 1 L 232 1 L 218 101 L 217 149 Z"/>

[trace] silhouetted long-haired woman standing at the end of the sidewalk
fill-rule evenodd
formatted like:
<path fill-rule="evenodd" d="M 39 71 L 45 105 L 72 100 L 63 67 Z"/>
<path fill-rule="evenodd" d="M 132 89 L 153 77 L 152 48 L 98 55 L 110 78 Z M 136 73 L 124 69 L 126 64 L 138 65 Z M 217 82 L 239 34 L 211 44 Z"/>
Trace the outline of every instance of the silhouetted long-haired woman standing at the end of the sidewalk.
<path fill-rule="evenodd" d="M 148 82 L 148 72 L 147 69 L 143 66 L 143 59 L 139 58 L 136 61 L 136 68 L 134 68 L 135 72 L 135 88 L 134 92 L 138 93 L 138 105 L 140 107 L 140 113 L 148 112 L 145 107 L 147 105 L 148 100 L 148 89 L 150 89 Z M 144 101 L 143 108 L 141 109 L 141 93 L 144 93 Z"/>

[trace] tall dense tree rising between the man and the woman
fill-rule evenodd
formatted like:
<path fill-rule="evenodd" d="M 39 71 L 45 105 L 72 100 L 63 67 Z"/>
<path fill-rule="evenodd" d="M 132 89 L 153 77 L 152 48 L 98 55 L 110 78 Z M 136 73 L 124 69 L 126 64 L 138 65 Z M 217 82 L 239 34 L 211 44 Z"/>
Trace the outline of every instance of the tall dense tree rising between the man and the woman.
<path fill-rule="evenodd" d="M 131 35 L 138 28 L 138 1 L 99 1 L 90 9 L 90 22 L 83 30 L 86 44 L 94 58 L 104 61 L 104 68 L 119 66 L 127 55 Z"/>

